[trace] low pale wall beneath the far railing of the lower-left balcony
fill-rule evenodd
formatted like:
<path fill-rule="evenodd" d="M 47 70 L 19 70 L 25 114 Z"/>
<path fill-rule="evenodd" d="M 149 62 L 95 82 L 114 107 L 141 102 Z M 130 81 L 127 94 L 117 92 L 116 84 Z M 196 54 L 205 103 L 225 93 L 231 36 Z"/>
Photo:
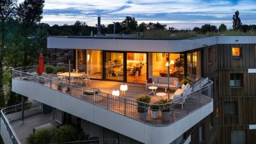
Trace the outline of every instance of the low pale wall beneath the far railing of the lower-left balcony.
<path fill-rule="evenodd" d="M 24 117 L 35 115 L 36 113 L 41 113 L 41 108 L 29 109 L 27 111 L 24 111 Z M 13 120 L 19 120 L 21 118 L 21 112 L 6 115 L 6 118 L 8 118 L 9 122 L 12 122 Z"/>

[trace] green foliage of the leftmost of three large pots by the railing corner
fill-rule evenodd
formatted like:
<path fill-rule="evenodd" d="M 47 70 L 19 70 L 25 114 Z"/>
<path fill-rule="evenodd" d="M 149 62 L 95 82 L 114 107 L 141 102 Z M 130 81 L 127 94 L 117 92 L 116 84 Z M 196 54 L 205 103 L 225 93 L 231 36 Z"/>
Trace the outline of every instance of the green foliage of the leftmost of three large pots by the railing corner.
<path fill-rule="evenodd" d="M 147 112 L 147 108 L 148 108 L 148 103 L 150 102 L 151 97 L 148 97 L 148 95 L 141 95 L 140 97 L 137 97 L 136 100 L 138 101 L 138 107 L 137 107 L 137 111 L 139 113 L 145 113 Z M 142 103 L 144 102 L 144 103 Z M 147 103 L 147 104 L 145 104 Z"/>

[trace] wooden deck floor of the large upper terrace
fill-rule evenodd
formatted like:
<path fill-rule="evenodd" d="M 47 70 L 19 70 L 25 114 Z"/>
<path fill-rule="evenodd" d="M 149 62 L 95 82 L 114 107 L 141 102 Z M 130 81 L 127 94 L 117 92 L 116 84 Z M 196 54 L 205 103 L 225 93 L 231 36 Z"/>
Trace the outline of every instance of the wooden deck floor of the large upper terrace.
<path fill-rule="evenodd" d="M 49 83 L 44 84 L 49 86 Z M 128 99 L 124 99 L 124 97 L 113 97 L 113 95 L 108 95 L 107 93 L 112 93 L 113 90 L 120 90 L 120 85 L 124 83 L 91 80 L 91 85 L 88 84 L 88 87 L 86 88 L 99 88 L 99 95 L 103 96 L 102 100 L 97 101 L 95 100 L 95 97 L 91 97 L 90 99 L 83 99 L 82 93 L 85 90 L 85 86 L 82 85 L 82 87 L 80 87 L 81 83 L 79 82 L 74 82 L 72 84 L 77 84 L 77 86 L 72 86 L 70 96 L 77 97 L 78 99 L 85 100 L 87 102 L 92 102 L 97 106 L 109 109 L 111 111 L 115 111 L 120 115 L 124 115 L 139 121 L 141 121 L 141 119 L 139 118 L 139 113 L 137 112 L 137 103 L 134 100 L 140 95 L 148 95 L 148 93 L 151 91 L 149 89 L 145 89 L 145 84 L 125 83 L 128 86 L 128 90 L 126 92 L 126 97 Z M 56 84 L 51 84 L 51 87 L 57 89 Z M 67 88 L 64 87 L 63 92 L 65 92 L 66 89 Z M 164 92 L 164 88 L 158 88 L 157 92 Z M 172 98 L 173 92 L 175 92 L 175 90 L 171 90 L 170 98 Z M 151 97 L 151 104 L 160 99 L 160 97 L 154 95 L 153 93 L 150 93 L 149 96 Z M 168 96 L 165 96 L 163 98 L 165 99 L 167 97 Z M 99 97 L 97 97 L 96 99 L 99 99 Z M 173 104 L 171 112 L 172 114 L 168 121 L 163 121 L 161 111 L 159 111 L 158 118 L 152 118 L 152 115 L 150 113 L 151 111 L 148 109 L 147 119 L 143 120 L 143 122 L 150 125 L 169 125 L 173 122 L 176 122 L 177 120 L 180 120 L 192 111 L 199 109 L 200 106 L 204 106 L 210 101 L 211 99 L 209 99 L 208 97 L 198 94 L 193 95 L 193 97 L 188 97 L 188 99 L 186 100 L 186 105 L 183 106 L 183 109 L 181 104 Z"/>

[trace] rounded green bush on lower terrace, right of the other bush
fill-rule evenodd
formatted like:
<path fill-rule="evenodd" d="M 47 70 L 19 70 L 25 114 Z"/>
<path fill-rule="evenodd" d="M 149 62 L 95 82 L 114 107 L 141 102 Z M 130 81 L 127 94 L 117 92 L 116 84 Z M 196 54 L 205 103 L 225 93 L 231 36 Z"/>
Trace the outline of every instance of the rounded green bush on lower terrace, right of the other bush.
<path fill-rule="evenodd" d="M 77 136 L 76 128 L 72 125 L 63 125 L 56 129 L 53 134 L 54 143 L 65 143 L 74 141 Z"/>

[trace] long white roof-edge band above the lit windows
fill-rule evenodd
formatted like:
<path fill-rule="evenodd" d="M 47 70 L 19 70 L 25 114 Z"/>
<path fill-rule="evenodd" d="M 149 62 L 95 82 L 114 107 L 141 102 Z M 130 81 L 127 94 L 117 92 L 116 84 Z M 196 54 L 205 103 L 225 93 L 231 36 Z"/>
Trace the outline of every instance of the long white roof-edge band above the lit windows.
<path fill-rule="evenodd" d="M 47 38 L 47 48 L 106 51 L 183 52 L 215 44 L 256 44 L 256 36 L 209 36 L 184 40 L 68 38 L 64 36 Z"/>

